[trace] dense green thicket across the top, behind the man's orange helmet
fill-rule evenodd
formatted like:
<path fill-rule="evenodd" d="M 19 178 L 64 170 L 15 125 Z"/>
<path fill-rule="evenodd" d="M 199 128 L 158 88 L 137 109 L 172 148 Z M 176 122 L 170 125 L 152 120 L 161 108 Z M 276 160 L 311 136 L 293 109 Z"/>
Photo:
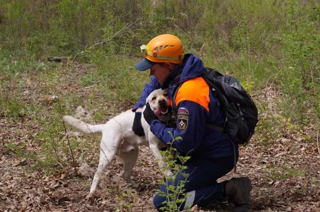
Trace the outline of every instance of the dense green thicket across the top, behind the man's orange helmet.
<path fill-rule="evenodd" d="M 141 56 L 140 44 L 172 33 L 207 66 L 252 80 L 282 70 L 290 81 L 319 83 L 319 16 L 315 0 L 4 0 L 0 41 L 3 56 L 44 59 L 79 54 L 108 40 L 99 45 L 103 54 L 128 58 Z"/>

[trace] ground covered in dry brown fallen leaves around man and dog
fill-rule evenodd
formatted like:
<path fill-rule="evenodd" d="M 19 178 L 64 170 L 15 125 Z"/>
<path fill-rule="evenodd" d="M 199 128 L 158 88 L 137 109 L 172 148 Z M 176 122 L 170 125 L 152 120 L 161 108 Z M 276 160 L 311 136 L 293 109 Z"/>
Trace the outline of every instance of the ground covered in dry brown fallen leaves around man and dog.
<path fill-rule="evenodd" d="M 93 88 L 79 86 L 75 82 L 86 74 L 87 67 L 78 65 L 74 72 L 77 74 L 61 72 L 60 80 L 65 82 L 66 86 L 60 89 L 79 94 L 81 101 L 85 102 Z M 28 89 L 18 93 L 16 98 L 25 104 L 35 102 L 41 105 L 45 102 L 47 107 L 51 107 L 50 103 L 54 101 L 54 97 L 52 100 L 46 99 L 47 97 L 36 92 L 39 82 L 32 81 L 34 78 L 31 75 L 24 76 L 31 81 Z M 7 87 L 4 92 L 14 92 L 14 89 Z M 254 93 L 253 98 L 260 105 L 260 122 L 268 123 L 267 119 L 275 112 L 272 106 L 263 109 L 263 103 L 272 105 L 274 99 L 280 96 L 281 93 L 275 86 L 266 86 Z M 95 98 L 99 99 L 99 96 Z M 100 106 L 104 107 L 103 103 Z M 72 110 L 75 108 L 76 105 Z M 120 107 L 119 110 L 126 109 L 129 108 Z M 107 121 L 117 112 L 119 111 L 109 111 L 99 123 Z M 260 124 L 249 145 L 240 148 L 237 172 L 231 171 L 220 180 L 250 177 L 253 211 L 320 211 L 320 150 L 315 126 L 308 125 L 301 129 L 290 127 L 287 120 L 269 123 L 271 125 Z M 69 164 L 60 164 L 63 167 L 60 168 L 57 162 L 53 166 L 60 169 L 50 172 L 44 168 L 40 160 L 23 157 L 8 147 L 9 141 L 11 146 L 19 147 L 21 143 L 28 143 L 26 148 L 29 149 L 25 149 L 26 152 L 40 151 L 40 141 L 32 141 L 36 131 L 43 130 L 42 127 L 34 125 L 28 116 L 15 120 L 1 118 L 0 211 L 156 211 L 153 208 L 152 197 L 160 186 L 158 181 L 162 175 L 149 148 L 140 148 L 138 161 L 132 171 L 133 180 L 144 185 L 140 190 L 132 190 L 122 182 L 117 175 L 122 170 L 122 164 L 115 159 L 100 184 L 100 188 L 103 188 L 100 189 L 100 193 L 87 196 L 97 167 L 99 148 L 86 149 L 83 158 L 76 158 L 76 166 L 72 164 L 69 155 L 66 158 L 70 161 Z M 266 129 L 268 127 L 269 129 Z M 270 133 L 275 133 L 273 140 L 266 140 L 270 138 L 266 136 Z M 74 137 L 81 141 L 89 139 L 77 134 L 74 134 Z M 92 145 L 98 146 L 98 143 L 99 137 L 95 138 Z M 227 202 L 214 202 L 205 208 L 194 207 L 192 210 L 230 211 L 230 207 Z"/>

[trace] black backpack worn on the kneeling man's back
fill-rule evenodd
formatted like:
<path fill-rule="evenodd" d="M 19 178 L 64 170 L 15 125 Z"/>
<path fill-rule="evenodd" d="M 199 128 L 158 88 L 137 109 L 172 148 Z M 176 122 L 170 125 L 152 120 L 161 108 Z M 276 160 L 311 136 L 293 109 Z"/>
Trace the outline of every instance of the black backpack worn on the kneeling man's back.
<path fill-rule="evenodd" d="M 228 138 L 238 144 L 246 145 L 258 123 L 258 110 L 251 96 L 239 81 L 217 70 L 204 68 L 201 77 L 208 83 L 216 95 L 220 108 L 226 116 L 224 127 L 206 123 L 205 126 L 224 132 Z M 181 85 L 180 85 L 181 86 Z M 172 107 L 176 110 L 175 99 L 179 87 L 172 98 Z"/>

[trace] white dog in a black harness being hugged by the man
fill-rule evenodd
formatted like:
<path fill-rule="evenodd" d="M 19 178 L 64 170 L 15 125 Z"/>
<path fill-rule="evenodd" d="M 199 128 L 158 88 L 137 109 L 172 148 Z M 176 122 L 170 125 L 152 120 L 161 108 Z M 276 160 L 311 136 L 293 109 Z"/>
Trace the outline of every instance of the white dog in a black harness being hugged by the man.
<path fill-rule="evenodd" d="M 168 89 L 153 91 L 148 96 L 146 102 L 150 104 L 150 108 L 154 111 L 155 115 L 159 117 L 159 120 L 171 120 L 171 113 L 168 111 L 168 106 L 171 105 Z M 144 109 L 145 107 L 143 110 Z M 107 170 L 115 155 L 124 163 L 124 169 L 121 172 L 124 181 L 133 187 L 137 187 L 137 184 L 131 179 L 131 172 L 138 158 L 139 145 L 149 147 L 156 159 L 159 159 L 158 165 L 160 167 L 165 166 L 165 163 L 161 160 L 162 155 L 160 154 L 160 148 L 166 147 L 166 145 L 151 133 L 150 126 L 143 116 L 141 117 L 141 124 L 146 136 L 139 137 L 134 134 L 132 131 L 134 116 L 135 113 L 132 112 L 132 110 L 127 110 L 110 119 L 106 124 L 100 125 L 89 125 L 71 116 L 62 117 L 64 122 L 84 134 L 92 135 L 102 133 L 99 165 L 93 177 L 90 193 L 96 190 L 101 176 Z M 171 171 L 167 170 L 165 176 L 170 176 L 171 174 Z"/>

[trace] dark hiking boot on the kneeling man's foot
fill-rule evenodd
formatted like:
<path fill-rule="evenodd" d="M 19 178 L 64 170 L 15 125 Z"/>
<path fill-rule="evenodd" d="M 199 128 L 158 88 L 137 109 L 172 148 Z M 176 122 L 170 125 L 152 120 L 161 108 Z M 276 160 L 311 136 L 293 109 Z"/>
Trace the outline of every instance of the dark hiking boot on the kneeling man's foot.
<path fill-rule="evenodd" d="M 226 183 L 226 195 L 228 202 L 232 202 L 235 207 L 232 212 L 250 212 L 252 201 L 250 199 L 251 180 L 248 177 L 231 178 Z"/>

